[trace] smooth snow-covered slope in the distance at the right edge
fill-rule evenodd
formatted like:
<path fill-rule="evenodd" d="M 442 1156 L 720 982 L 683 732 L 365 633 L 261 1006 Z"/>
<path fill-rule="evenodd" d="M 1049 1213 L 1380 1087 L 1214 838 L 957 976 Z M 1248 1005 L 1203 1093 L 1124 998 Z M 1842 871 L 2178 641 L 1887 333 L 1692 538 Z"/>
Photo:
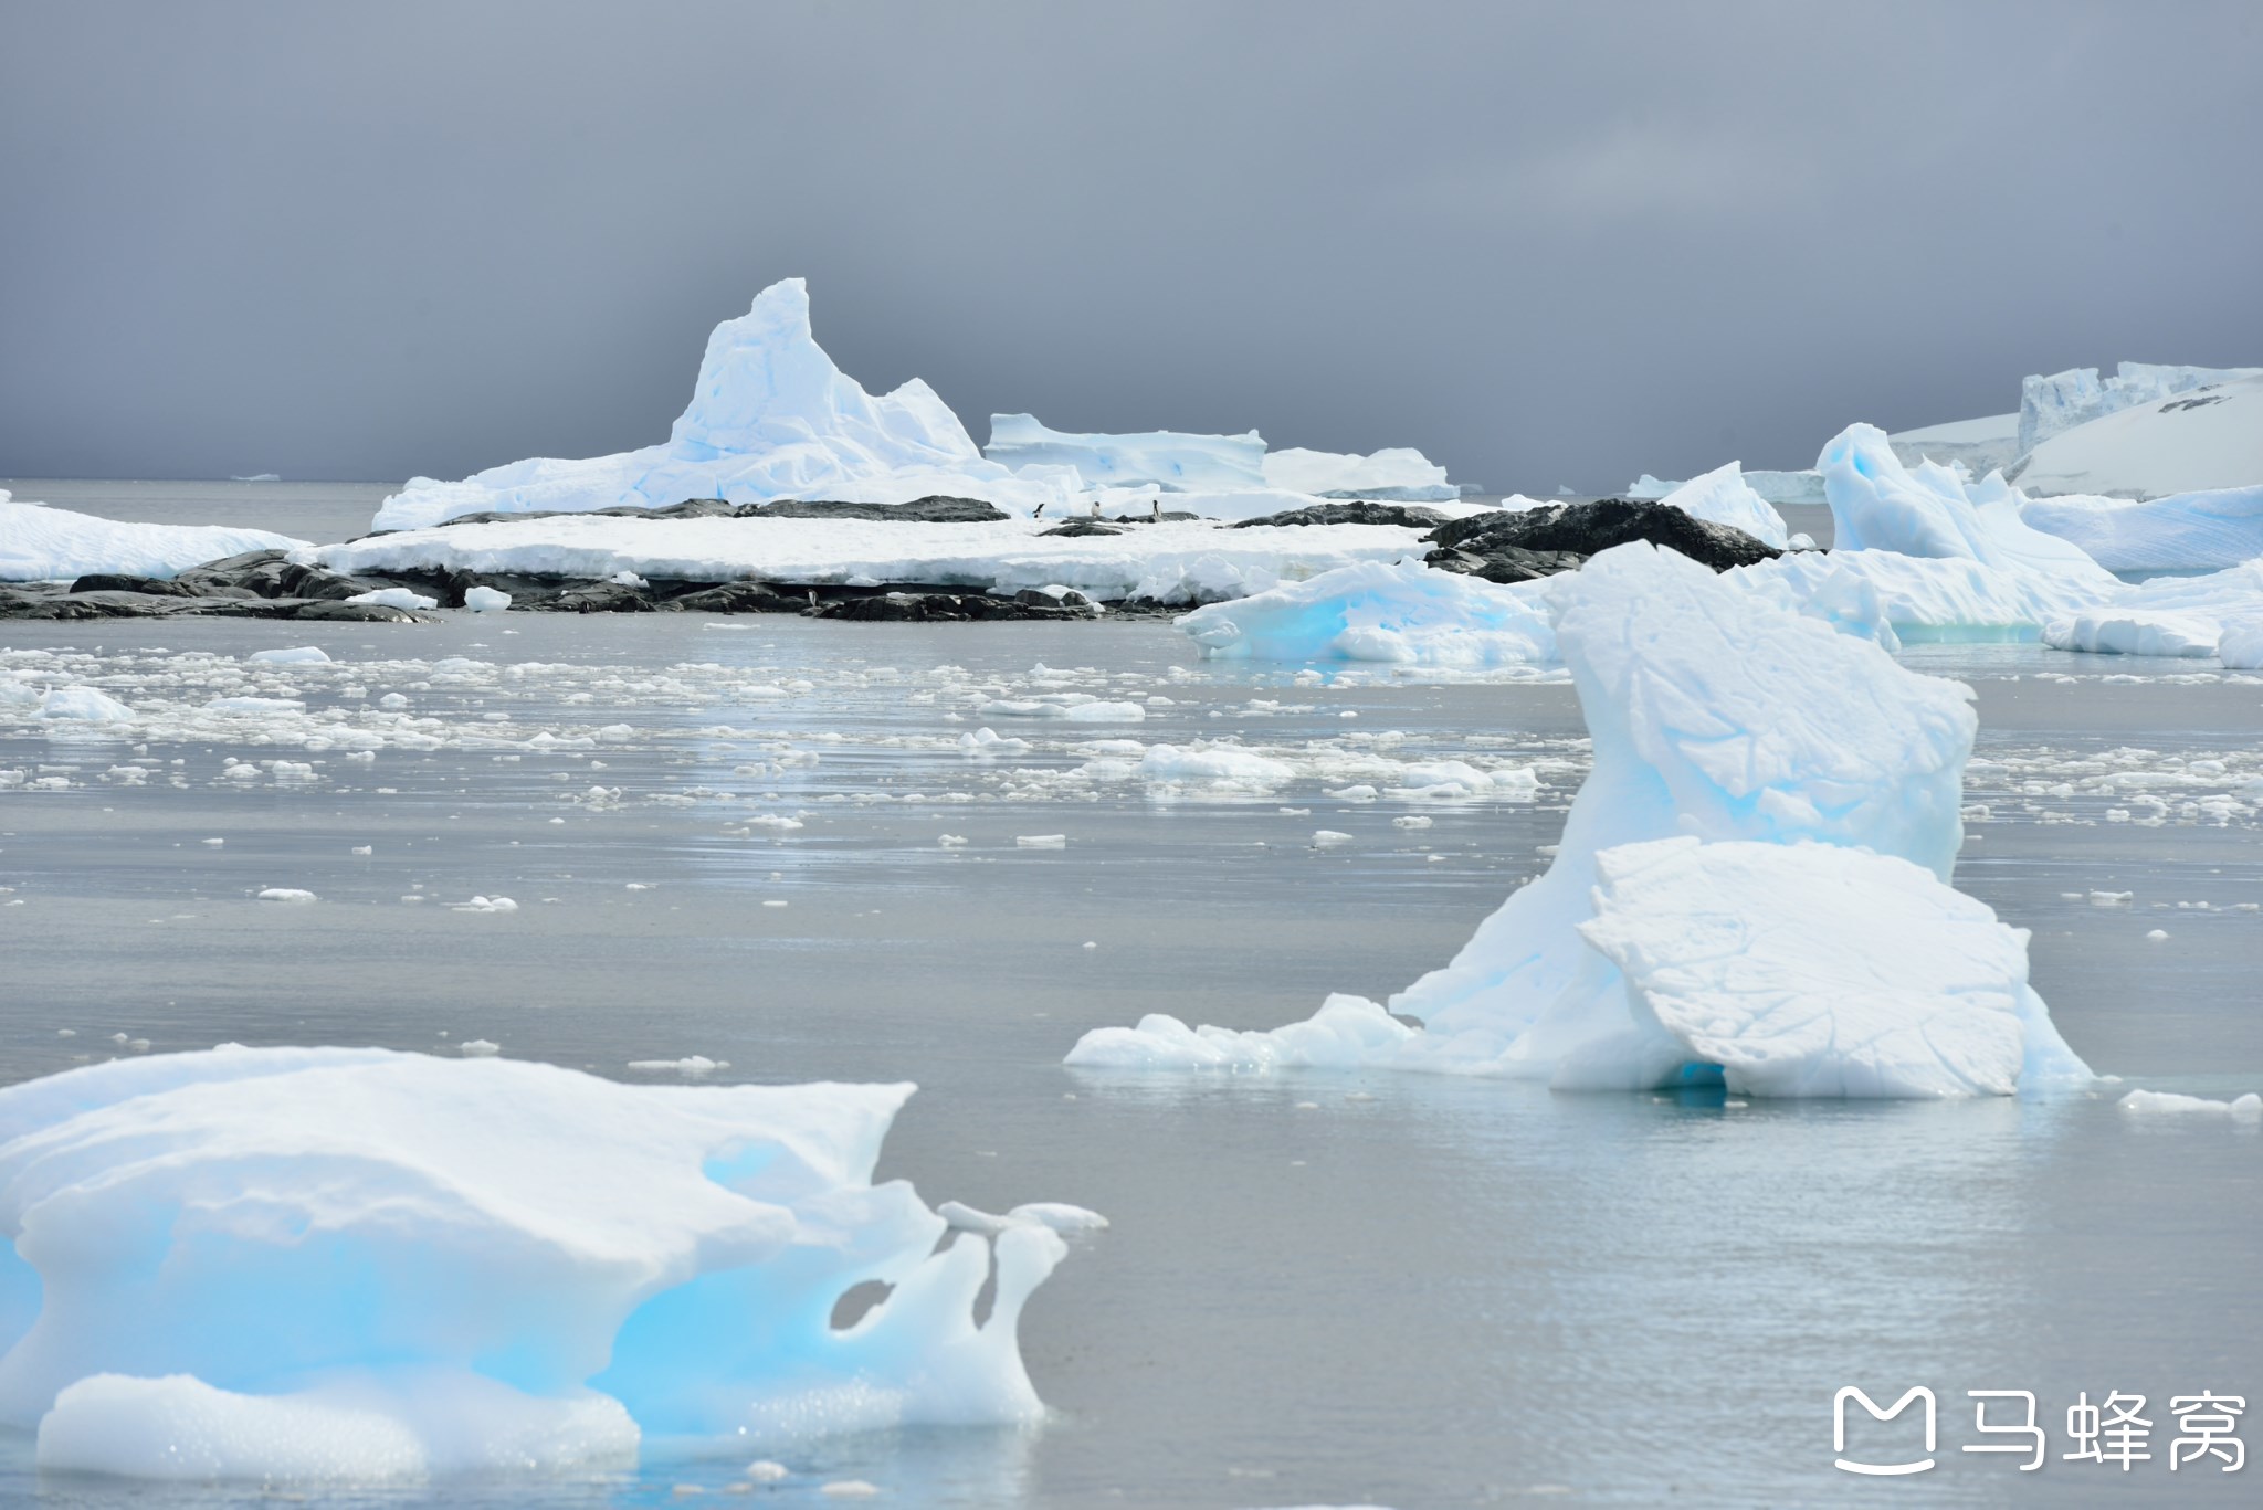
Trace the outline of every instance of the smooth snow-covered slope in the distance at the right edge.
<path fill-rule="evenodd" d="M 2030 494 L 2161 498 L 2263 482 L 2263 369 L 2125 407 L 2034 446 L 2005 478 Z"/>

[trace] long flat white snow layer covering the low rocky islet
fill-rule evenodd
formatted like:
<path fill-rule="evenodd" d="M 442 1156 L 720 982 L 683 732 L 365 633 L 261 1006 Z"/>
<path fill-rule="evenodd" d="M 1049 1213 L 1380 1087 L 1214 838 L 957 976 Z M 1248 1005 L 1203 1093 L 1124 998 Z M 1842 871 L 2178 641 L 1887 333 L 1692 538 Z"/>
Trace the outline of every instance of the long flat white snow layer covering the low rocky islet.
<path fill-rule="evenodd" d="M 1310 500 L 1303 500 L 1310 503 Z M 1224 530 L 1202 521 L 1048 537 L 1046 521 L 926 525 L 864 518 L 525 518 L 378 534 L 301 552 L 333 570 L 471 570 L 679 582 L 923 582 L 1095 600 L 1215 602 L 1281 582 L 1421 555 L 1396 525 Z"/>

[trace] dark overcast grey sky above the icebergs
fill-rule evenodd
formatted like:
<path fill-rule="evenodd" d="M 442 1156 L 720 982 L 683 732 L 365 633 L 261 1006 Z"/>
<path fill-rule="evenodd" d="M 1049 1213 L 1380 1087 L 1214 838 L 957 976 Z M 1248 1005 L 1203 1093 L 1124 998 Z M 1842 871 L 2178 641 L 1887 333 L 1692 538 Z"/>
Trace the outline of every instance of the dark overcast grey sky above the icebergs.
<path fill-rule="evenodd" d="M 1806 466 L 2263 362 L 2263 5 L 0 0 L 0 475 L 622 451 L 790 274 L 978 441 Z"/>

